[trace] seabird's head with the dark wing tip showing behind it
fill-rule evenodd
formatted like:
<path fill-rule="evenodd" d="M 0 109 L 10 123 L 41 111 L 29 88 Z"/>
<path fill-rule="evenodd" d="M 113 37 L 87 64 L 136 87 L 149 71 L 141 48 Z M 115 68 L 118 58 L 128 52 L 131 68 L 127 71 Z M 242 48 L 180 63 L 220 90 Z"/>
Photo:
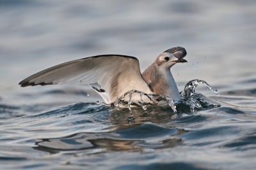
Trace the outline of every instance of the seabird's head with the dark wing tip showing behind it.
<path fill-rule="evenodd" d="M 186 54 L 185 48 L 180 46 L 173 47 L 161 53 L 156 59 L 156 64 L 157 66 L 170 69 L 177 62 L 188 62 L 183 59 Z"/>

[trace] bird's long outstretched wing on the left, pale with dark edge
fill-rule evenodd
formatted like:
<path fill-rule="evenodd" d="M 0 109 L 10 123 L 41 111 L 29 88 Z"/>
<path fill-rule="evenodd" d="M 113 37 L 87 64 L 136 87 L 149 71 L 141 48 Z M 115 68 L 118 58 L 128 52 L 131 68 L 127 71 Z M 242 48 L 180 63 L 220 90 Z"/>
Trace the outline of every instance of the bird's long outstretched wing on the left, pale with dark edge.
<path fill-rule="evenodd" d="M 72 60 L 40 71 L 20 81 L 21 87 L 63 83 L 99 83 L 108 93 L 110 103 L 129 90 L 150 93 L 143 80 L 140 64 L 135 57 L 125 55 L 97 55 Z"/>

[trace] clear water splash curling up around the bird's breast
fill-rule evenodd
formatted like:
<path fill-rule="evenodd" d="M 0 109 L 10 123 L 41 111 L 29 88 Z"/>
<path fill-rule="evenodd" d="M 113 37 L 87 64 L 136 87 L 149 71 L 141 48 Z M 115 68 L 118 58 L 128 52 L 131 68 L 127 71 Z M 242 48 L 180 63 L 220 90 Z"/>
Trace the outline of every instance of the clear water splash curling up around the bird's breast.
<path fill-rule="evenodd" d="M 209 83 L 207 83 L 204 80 L 191 80 L 188 81 L 186 86 L 184 87 L 184 91 L 180 93 L 180 96 L 183 98 L 180 101 L 173 101 L 171 97 L 168 96 L 162 96 L 159 94 L 146 94 L 144 92 L 138 91 L 138 90 L 129 90 L 128 92 L 125 92 L 119 99 L 117 99 L 115 102 L 111 104 L 106 104 L 107 106 L 111 106 L 113 108 L 128 108 L 130 111 L 131 117 L 129 117 L 128 121 L 132 122 L 133 121 L 133 116 L 132 116 L 132 106 L 141 106 L 143 110 L 147 112 L 147 106 L 150 105 L 156 105 L 156 104 L 168 104 L 170 108 L 172 108 L 173 113 L 178 113 L 177 111 L 177 106 L 182 106 L 186 107 L 188 110 L 190 108 L 191 112 L 195 112 L 195 110 L 200 110 L 202 108 L 209 108 L 219 106 L 219 105 L 214 105 L 214 104 L 208 104 L 207 101 L 205 101 L 204 96 L 198 96 L 195 94 L 195 89 L 198 87 L 200 84 L 205 84 L 207 85 L 208 89 L 212 90 L 212 92 L 216 93 L 218 95 L 218 90 L 213 89 Z M 133 94 L 138 94 L 140 98 L 134 99 Z M 149 99 L 149 102 L 146 99 Z M 203 106 L 202 106 L 203 104 Z M 211 106 L 211 107 L 210 107 Z M 179 108 L 180 109 L 180 108 Z M 186 109 L 186 110 L 187 110 Z"/>

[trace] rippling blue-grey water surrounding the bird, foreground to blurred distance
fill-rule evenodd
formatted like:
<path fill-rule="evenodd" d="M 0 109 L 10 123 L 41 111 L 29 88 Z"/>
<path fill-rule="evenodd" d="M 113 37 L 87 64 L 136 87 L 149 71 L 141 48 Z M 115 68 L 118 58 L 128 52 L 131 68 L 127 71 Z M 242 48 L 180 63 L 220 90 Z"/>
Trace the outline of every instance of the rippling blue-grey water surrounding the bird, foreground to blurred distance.
<path fill-rule="evenodd" d="M 0 169 L 255 169 L 255 3 L 0 1 Z M 131 113 L 86 82 L 17 85 L 107 53 L 138 57 L 143 71 L 173 46 L 188 51 L 172 68 L 179 91 L 198 79 L 219 96 L 198 85 L 170 101 L 176 112 L 142 100 Z"/>

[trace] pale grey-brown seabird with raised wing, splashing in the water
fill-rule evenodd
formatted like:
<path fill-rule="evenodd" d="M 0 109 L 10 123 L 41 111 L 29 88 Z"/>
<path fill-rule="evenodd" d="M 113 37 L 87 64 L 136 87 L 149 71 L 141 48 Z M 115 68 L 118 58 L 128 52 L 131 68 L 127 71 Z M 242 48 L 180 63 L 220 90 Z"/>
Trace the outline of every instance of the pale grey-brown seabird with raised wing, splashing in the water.
<path fill-rule="evenodd" d="M 129 90 L 159 94 L 180 101 L 182 97 L 170 68 L 178 62 L 188 62 L 183 59 L 186 54 L 185 48 L 181 46 L 165 50 L 142 74 L 136 57 L 96 55 L 49 67 L 25 78 L 19 85 L 27 87 L 83 82 L 90 85 L 106 104 L 115 102 Z"/>

